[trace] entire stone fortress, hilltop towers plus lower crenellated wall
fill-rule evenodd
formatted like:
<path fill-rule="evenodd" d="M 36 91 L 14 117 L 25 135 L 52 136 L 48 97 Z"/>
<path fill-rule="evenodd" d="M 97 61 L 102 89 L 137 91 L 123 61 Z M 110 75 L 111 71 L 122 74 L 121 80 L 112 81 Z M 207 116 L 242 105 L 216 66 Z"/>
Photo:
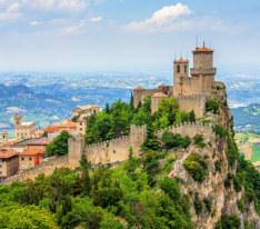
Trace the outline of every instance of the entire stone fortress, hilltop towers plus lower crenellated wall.
<path fill-rule="evenodd" d="M 197 119 L 202 118 L 206 114 L 207 99 L 220 93 L 222 91 L 220 88 L 224 89 L 224 84 L 214 81 L 217 69 L 213 67 L 212 49 L 203 44 L 201 48 L 196 48 L 192 53 L 193 68 L 191 69 L 189 67 L 189 60 L 184 60 L 183 58 L 174 60 L 173 86 L 162 84 L 156 89 L 143 89 L 141 87 L 133 89 L 133 106 L 137 108 L 146 97 L 150 96 L 151 111 L 156 112 L 162 99 L 174 97 L 180 110 L 186 112 L 194 111 Z M 191 138 L 196 135 L 203 135 L 206 139 L 213 136 L 212 127 L 202 123 L 182 123 L 178 127 L 169 127 L 168 130 Z M 157 135 L 160 136 L 161 133 L 159 131 Z M 44 165 L 39 165 L 40 168 L 28 170 L 23 176 L 20 175 L 7 181 L 33 178 L 39 172 L 44 171 L 44 169 L 51 172 L 58 167 L 77 168 L 82 156 L 92 166 L 117 165 L 129 158 L 130 150 L 134 156 L 139 156 L 141 153 L 140 147 L 144 142 L 146 137 L 146 126 L 131 126 L 129 136 L 90 146 L 86 146 L 83 135 L 76 135 L 74 138 L 69 139 L 68 156 L 62 159 L 50 160 Z"/>

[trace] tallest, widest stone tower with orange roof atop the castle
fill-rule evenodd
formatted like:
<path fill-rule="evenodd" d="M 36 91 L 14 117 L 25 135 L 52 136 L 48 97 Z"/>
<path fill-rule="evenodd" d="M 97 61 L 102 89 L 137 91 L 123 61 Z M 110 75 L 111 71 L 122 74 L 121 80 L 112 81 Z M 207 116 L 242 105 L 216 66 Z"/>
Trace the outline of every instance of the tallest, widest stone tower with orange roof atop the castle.
<path fill-rule="evenodd" d="M 210 94 L 217 70 L 213 68 L 213 49 L 196 48 L 193 50 L 192 91 L 197 94 Z"/>

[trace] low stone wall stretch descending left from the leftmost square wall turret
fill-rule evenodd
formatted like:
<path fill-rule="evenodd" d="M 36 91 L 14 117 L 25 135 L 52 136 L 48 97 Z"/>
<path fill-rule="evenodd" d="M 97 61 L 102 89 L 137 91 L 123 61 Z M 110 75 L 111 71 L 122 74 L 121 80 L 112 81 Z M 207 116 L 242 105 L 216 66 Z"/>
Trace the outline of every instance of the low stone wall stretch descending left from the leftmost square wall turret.
<path fill-rule="evenodd" d="M 51 175 L 54 171 L 54 169 L 62 167 L 69 167 L 67 156 L 50 158 L 48 161 L 43 161 L 42 163 L 40 163 L 34 168 L 23 170 L 21 173 L 6 179 L 3 183 L 11 183 L 13 181 L 26 181 L 28 179 L 34 179 L 36 177 L 42 173 L 48 176 Z"/>

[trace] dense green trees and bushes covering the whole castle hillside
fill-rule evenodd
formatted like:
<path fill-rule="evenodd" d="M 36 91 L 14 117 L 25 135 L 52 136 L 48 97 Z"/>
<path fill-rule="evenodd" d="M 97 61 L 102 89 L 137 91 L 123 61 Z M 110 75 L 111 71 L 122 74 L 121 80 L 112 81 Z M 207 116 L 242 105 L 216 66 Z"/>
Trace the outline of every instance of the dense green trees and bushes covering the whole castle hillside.
<path fill-rule="evenodd" d="M 210 102 L 212 112 L 218 112 L 216 102 Z M 209 109 L 210 110 L 210 109 Z M 51 176 L 39 176 L 36 180 L 0 186 L 0 228 L 10 229 L 191 229 L 190 207 L 198 213 L 210 208 L 210 200 L 191 202 L 181 193 L 180 181 L 168 178 L 174 163 L 172 150 L 189 146 L 203 148 L 203 137 L 194 138 L 166 131 L 159 139 L 154 131 L 182 121 L 194 121 L 193 112 L 183 113 L 174 99 L 162 100 L 159 110 L 151 114 L 150 98 L 139 108 L 117 101 L 111 107 L 88 120 L 88 143 L 127 135 L 131 123 L 147 125 L 148 136 L 142 146 L 142 156 L 134 158 L 129 148 L 129 160 L 117 168 L 91 167 L 82 158 L 76 170 L 57 169 Z M 239 156 L 238 149 L 222 128 L 214 131 L 229 145 L 229 166 L 237 166 L 226 186 L 244 188 L 246 196 L 239 208 L 244 211 L 248 202 L 254 202 L 260 212 L 260 175 L 250 162 Z M 62 133 L 49 147 L 48 153 L 62 153 L 68 135 Z M 218 166 L 218 167 L 217 167 Z M 216 165 L 221 170 L 221 165 Z M 184 168 L 196 182 L 207 177 L 208 165 L 199 155 L 184 161 Z M 237 216 L 223 216 L 218 229 L 240 228 Z M 252 228 L 250 225 L 247 228 Z"/>

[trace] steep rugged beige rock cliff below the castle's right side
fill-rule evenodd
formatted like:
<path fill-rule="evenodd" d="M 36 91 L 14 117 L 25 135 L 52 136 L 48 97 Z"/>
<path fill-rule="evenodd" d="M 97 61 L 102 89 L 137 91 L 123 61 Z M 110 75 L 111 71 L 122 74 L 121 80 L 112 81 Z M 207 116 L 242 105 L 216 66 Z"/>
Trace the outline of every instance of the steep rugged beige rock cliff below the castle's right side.
<path fill-rule="evenodd" d="M 179 179 L 182 192 L 189 197 L 196 228 L 222 228 L 224 216 L 239 219 L 240 228 L 260 228 L 256 202 L 248 200 L 249 193 L 238 175 L 239 156 L 232 138 L 224 86 L 218 84 L 212 94 L 211 99 L 218 101 L 218 111 L 209 111 L 201 121 L 211 122 L 214 133 L 204 140 L 203 146 L 192 145 L 184 153 L 179 153 L 169 177 Z M 192 157 L 200 157 L 206 162 L 203 179 L 189 171 L 188 162 Z"/>

